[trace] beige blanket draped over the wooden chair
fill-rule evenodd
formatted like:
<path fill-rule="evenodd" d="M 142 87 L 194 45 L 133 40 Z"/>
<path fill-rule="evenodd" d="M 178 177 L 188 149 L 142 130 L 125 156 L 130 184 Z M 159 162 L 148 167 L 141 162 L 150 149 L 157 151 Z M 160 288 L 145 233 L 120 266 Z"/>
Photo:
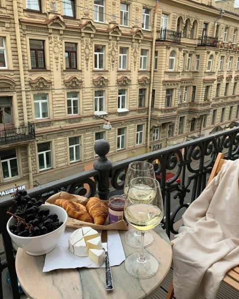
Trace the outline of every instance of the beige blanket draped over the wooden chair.
<path fill-rule="evenodd" d="M 239 264 L 239 159 L 219 174 L 183 215 L 173 246 L 177 299 L 215 299 L 226 272 Z"/>

